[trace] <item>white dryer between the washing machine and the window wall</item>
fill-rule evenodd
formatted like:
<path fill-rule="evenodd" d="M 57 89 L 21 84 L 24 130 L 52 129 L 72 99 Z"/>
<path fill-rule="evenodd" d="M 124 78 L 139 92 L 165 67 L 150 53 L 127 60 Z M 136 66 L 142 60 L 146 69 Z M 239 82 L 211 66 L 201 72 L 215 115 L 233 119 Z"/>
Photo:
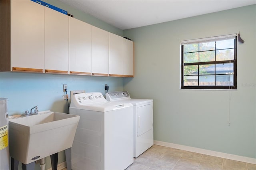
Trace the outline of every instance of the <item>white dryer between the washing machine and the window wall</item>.
<path fill-rule="evenodd" d="M 131 99 L 127 91 L 106 93 L 108 101 L 132 103 L 134 106 L 134 158 L 154 144 L 153 136 L 153 100 Z"/>

